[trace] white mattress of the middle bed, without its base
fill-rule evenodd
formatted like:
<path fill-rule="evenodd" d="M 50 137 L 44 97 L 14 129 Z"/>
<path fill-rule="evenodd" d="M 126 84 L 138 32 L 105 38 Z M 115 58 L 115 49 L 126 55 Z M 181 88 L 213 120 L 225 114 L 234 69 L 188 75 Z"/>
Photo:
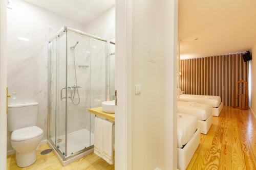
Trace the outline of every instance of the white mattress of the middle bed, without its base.
<path fill-rule="evenodd" d="M 211 116 L 212 108 L 209 105 L 199 103 L 198 106 L 191 106 L 189 102 L 177 102 L 177 112 L 196 116 L 198 120 L 206 120 Z"/>

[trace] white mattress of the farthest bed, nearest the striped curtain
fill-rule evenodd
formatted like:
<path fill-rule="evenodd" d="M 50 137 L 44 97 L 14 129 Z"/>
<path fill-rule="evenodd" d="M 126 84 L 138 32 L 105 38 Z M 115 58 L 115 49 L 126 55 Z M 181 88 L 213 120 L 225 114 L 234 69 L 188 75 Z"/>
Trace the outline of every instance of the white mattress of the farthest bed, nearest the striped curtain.
<path fill-rule="evenodd" d="M 197 102 L 211 107 L 219 107 L 221 104 L 221 97 L 216 95 L 193 95 L 193 94 L 181 94 L 180 101 L 183 102 Z"/>

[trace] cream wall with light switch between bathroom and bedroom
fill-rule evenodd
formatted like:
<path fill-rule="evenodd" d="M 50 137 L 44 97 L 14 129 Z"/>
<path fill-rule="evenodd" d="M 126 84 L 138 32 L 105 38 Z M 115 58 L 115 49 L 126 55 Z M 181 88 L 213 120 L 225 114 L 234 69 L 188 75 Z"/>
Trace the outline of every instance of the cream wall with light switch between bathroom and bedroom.
<path fill-rule="evenodd" d="M 132 1 L 132 169 L 177 168 L 176 68 L 177 1 Z"/>

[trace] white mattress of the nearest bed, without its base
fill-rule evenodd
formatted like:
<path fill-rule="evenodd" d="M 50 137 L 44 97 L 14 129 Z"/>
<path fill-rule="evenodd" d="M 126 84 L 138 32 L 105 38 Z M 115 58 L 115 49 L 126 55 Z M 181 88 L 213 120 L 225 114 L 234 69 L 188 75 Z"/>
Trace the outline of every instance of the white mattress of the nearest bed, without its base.
<path fill-rule="evenodd" d="M 197 117 L 187 114 L 177 114 L 177 147 L 183 146 L 193 137 L 197 130 Z"/>

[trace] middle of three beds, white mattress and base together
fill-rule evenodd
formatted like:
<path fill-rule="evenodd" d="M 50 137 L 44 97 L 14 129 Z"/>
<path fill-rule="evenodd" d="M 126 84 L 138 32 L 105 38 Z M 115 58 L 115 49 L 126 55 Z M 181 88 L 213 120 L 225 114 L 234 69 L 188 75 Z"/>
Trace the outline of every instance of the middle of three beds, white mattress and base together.
<path fill-rule="evenodd" d="M 212 124 L 211 107 L 209 105 L 197 104 L 190 102 L 177 102 L 177 112 L 197 117 L 197 127 L 200 133 L 207 134 Z"/>

